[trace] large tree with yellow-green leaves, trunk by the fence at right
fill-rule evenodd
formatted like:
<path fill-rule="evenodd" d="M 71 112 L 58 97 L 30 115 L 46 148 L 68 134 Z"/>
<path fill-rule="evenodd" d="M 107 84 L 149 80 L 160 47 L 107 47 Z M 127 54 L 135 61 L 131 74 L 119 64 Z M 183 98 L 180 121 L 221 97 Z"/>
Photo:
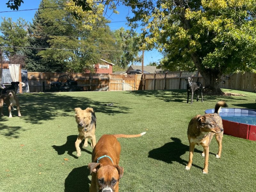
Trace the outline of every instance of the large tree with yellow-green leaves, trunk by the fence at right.
<path fill-rule="evenodd" d="M 221 92 L 223 73 L 255 71 L 254 0 L 123 0 L 133 28 L 143 27 L 141 48 L 163 52 L 161 68 L 198 69 L 206 87 Z M 192 62 L 191 62 L 192 61 Z M 191 65 L 192 63 L 192 65 Z"/>

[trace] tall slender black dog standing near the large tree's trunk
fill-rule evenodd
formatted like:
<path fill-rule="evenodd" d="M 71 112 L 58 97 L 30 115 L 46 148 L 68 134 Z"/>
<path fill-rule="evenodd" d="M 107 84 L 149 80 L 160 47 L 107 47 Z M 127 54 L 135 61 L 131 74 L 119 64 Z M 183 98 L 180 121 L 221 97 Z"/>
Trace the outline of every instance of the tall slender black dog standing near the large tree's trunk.
<path fill-rule="evenodd" d="M 200 83 L 200 82 L 192 82 L 192 78 L 191 77 L 187 77 L 185 78 L 185 81 L 187 81 L 187 92 L 188 92 L 188 98 L 189 98 L 189 92 L 191 92 L 191 103 L 193 103 L 193 96 L 194 96 L 194 92 L 196 92 L 196 96 L 197 96 L 197 99 L 196 101 L 198 101 L 198 90 L 200 91 L 201 93 L 201 102 L 203 102 L 203 85 Z M 187 99 L 187 103 L 188 103 L 188 99 Z"/>

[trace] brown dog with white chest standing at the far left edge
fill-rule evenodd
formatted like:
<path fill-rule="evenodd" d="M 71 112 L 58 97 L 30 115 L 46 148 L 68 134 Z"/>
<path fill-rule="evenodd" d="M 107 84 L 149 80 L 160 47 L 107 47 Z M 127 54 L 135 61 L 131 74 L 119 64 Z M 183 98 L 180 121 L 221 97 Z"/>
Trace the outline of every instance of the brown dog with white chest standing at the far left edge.
<path fill-rule="evenodd" d="M 16 96 L 16 93 L 14 90 L 7 90 L 5 94 L 0 96 L 1 116 L 4 116 L 4 114 L 3 114 L 4 103 L 6 103 L 6 105 L 8 106 L 9 117 L 12 117 L 12 107 L 14 105 L 17 106 L 18 116 L 21 117 L 19 99 Z"/>

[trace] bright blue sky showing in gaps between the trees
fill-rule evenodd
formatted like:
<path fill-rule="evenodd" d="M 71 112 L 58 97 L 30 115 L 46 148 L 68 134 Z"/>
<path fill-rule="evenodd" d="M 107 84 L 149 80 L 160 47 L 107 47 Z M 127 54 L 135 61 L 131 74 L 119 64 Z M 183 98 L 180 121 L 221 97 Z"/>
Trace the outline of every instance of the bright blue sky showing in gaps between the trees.
<path fill-rule="evenodd" d="M 8 0 L 1 0 L 0 17 L 1 18 L 11 17 L 13 21 L 16 21 L 18 18 L 21 17 L 26 21 L 32 21 L 32 18 L 34 18 L 36 10 L 29 10 L 29 11 L 20 11 L 20 10 L 37 9 L 41 0 L 23 0 L 23 1 L 24 1 L 24 4 L 21 4 L 21 6 L 19 7 L 19 11 L 12 11 L 10 8 L 7 8 L 7 5 L 5 4 L 8 2 Z M 12 12 L 6 12 L 6 11 L 12 11 Z M 120 5 L 120 6 L 117 6 L 117 11 L 119 12 L 119 14 L 111 14 L 111 10 L 107 11 L 107 15 L 110 15 L 108 20 L 112 22 L 109 24 L 110 28 L 112 30 L 116 30 L 121 27 L 124 27 L 125 29 L 129 29 L 129 27 L 126 25 L 125 17 L 131 13 L 131 10 L 129 10 L 129 8 L 127 7 L 124 7 L 123 5 Z M 0 19 L 0 22 L 1 21 L 2 19 Z M 124 21 L 124 22 L 120 22 L 120 21 Z M 138 30 L 137 33 L 140 33 L 140 30 Z M 162 55 L 156 50 L 145 51 L 144 65 L 148 65 L 149 62 L 158 62 L 161 58 L 162 58 Z M 137 65 L 141 65 L 141 64 L 137 64 Z"/>

